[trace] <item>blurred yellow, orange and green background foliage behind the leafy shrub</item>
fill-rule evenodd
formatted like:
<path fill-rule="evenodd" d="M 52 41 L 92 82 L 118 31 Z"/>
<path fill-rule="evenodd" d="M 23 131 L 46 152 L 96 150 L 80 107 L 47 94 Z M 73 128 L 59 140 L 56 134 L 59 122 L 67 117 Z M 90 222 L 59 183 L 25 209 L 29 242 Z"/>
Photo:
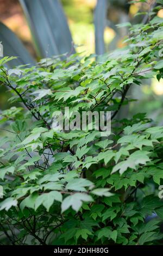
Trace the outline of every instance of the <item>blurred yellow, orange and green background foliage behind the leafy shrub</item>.
<path fill-rule="evenodd" d="M 46 2 L 46 0 L 44 1 Z M 52 1 L 55 4 L 55 0 Z M 87 54 L 96 51 L 97 54 L 101 54 L 117 47 L 123 47 L 123 40 L 128 34 L 127 27 L 119 28 L 116 25 L 124 22 L 132 24 L 142 22 L 143 19 L 146 19 L 146 12 L 150 5 L 155 1 L 148 0 L 148 4 L 140 1 L 129 4 L 128 0 L 61 0 L 60 2 L 67 18 L 72 40 L 75 45 L 80 46 L 76 48 L 76 51 L 84 51 Z M 33 58 L 38 59 L 20 2 L 18 0 L 0 0 L 0 6 L 1 22 L 21 39 Z M 137 15 L 139 11 L 142 12 L 142 15 Z M 159 11 L 158 16 L 163 17 L 163 10 Z M 1 36 L 0 41 L 2 41 Z M 3 88 L 0 89 L 0 109 L 6 109 L 9 107 L 9 95 Z M 128 115 L 137 112 L 147 113 L 149 118 L 154 119 L 159 125 L 163 125 L 162 79 L 160 82 L 155 78 L 152 81 L 146 80 L 141 88 L 135 87 L 128 96 L 139 100 L 139 102 L 130 103 Z M 124 108 L 125 116 L 126 111 Z"/>

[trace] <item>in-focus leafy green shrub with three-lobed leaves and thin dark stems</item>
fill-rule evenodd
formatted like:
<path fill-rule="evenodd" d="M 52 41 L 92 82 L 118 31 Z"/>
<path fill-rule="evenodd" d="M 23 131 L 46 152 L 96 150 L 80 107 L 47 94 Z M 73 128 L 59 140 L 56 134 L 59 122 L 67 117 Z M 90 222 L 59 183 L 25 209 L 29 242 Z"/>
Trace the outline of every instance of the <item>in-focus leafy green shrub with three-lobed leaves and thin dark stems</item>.
<path fill-rule="evenodd" d="M 163 127 L 145 113 L 117 120 L 129 88 L 163 77 L 161 8 L 96 60 L 76 53 L 10 70 L 12 58 L 0 60 L 1 86 L 21 103 L 1 113 L 2 245 L 162 244 Z M 65 107 L 111 111 L 111 135 L 53 130 Z"/>

